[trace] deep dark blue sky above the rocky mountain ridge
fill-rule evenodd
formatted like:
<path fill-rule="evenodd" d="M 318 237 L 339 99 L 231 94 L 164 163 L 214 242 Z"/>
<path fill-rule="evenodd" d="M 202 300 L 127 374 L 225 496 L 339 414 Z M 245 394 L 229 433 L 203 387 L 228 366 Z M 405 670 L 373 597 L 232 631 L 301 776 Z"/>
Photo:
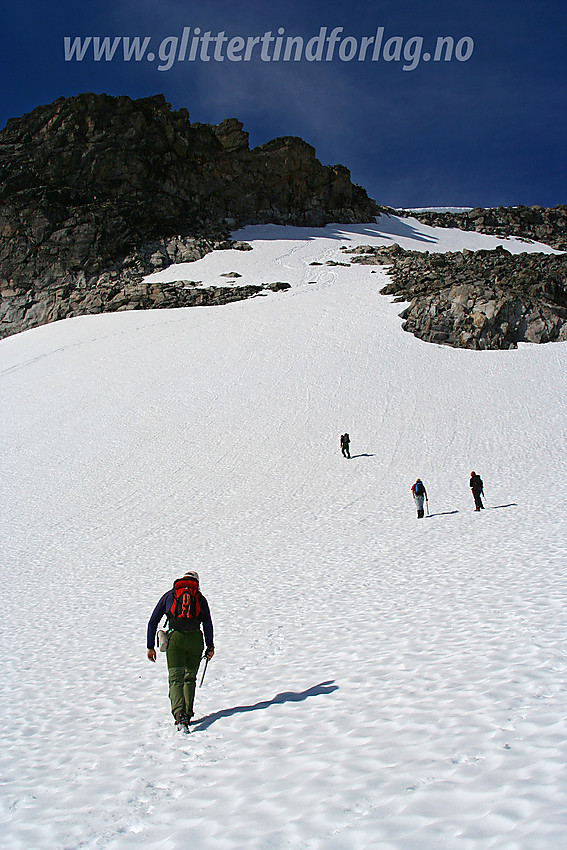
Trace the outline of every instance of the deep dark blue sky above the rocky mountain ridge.
<path fill-rule="evenodd" d="M 324 164 L 350 168 L 379 203 L 393 206 L 567 202 L 567 4 L 559 0 L 381 0 L 209 3 L 195 0 L 22 0 L 4 7 L 0 34 L 0 126 L 60 95 L 82 91 L 143 97 L 163 92 L 192 121 L 238 117 L 251 146 L 275 136 L 310 142 Z M 275 42 L 250 61 L 65 61 L 69 36 L 150 36 L 146 53 L 184 27 L 244 39 L 281 28 L 304 45 L 321 27 L 342 27 L 343 56 L 383 27 L 371 61 L 273 61 Z M 461 58 L 434 61 L 436 39 L 461 42 Z M 420 61 L 418 42 L 422 37 Z M 168 55 L 171 42 L 165 42 Z M 199 43 L 199 48 L 201 47 Z M 224 43 L 223 50 L 226 50 Z M 316 45 L 315 45 L 316 46 Z M 315 49 L 315 46 L 313 49 Z M 214 47 L 214 45 L 213 45 Z M 328 42 L 325 42 L 325 49 Z M 219 48 L 220 49 L 220 48 Z M 406 59 L 404 50 L 408 51 Z M 212 55 L 213 50 L 210 50 Z M 430 53 L 430 61 L 424 61 Z M 222 55 L 222 53 L 221 53 Z M 238 55 L 235 53 L 234 55 Z M 240 54 L 242 55 L 242 54 Z M 416 64 L 413 70 L 403 65 Z"/>

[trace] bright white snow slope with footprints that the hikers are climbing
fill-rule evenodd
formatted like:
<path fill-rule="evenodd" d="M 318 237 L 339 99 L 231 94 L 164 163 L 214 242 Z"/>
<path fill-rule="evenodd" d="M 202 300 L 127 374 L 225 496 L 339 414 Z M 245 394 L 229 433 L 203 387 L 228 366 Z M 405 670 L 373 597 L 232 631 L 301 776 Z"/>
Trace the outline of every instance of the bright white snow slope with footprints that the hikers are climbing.
<path fill-rule="evenodd" d="M 0 343 L 4 846 L 567 846 L 566 344 L 429 345 L 382 269 L 325 265 L 493 237 L 237 235 L 161 276 L 289 291 Z M 187 737 L 145 628 L 189 568 L 217 653 Z"/>

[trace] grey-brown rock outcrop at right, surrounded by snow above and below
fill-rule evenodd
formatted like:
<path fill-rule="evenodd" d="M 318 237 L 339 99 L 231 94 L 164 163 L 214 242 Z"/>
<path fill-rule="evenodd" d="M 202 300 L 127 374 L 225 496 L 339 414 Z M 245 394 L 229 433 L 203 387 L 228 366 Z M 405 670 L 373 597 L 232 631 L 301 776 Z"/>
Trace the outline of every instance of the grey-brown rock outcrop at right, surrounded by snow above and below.
<path fill-rule="evenodd" d="M 353 263 L 387 265 L 381 291 L 409 301 L 404 330 L 456 348 L 506 349 L 567 341 L 567 254 L 458 251 L 446 254 L 361 246 Z"/>

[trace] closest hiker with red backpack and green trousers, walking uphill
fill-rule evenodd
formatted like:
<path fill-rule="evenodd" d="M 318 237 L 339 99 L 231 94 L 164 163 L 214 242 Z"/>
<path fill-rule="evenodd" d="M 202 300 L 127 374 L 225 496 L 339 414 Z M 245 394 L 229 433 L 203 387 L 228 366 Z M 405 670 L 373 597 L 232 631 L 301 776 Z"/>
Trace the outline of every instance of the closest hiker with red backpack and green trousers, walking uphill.
<path fill-rule="evenodd" d="M 215 654 L 213 621 L 209 603 L 199 590 L 198 573 L 190 570 L 183 578 L 178 578 L 154 608 L 148 622 L 150 661 L 156 660 L 156 630 L 164 616 L 168 620 L 166 657 L 171 712 L 178 728 L 184 727 L 188 731 L 193 716 L 197 670 L 203 655 L 201 624 L 207 647 L 205 658 L 210 660 Z"/>

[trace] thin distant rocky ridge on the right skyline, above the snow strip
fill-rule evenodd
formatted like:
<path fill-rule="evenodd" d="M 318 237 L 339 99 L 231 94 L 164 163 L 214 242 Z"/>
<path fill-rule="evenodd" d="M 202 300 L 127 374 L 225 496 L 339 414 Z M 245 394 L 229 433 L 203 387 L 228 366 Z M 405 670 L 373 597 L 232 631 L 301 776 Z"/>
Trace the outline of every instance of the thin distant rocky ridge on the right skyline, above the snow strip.
<path fill-rule="evenodd" d="M 543 242 L 559 251 L 567 251 L 567 206 L 546 207 L 476 207 L 466 212 L 394 211 L 395 215 L 412 218 L 432 227 L 457 227 L 495 236 L 517 236 L 520 239 Z"/>

